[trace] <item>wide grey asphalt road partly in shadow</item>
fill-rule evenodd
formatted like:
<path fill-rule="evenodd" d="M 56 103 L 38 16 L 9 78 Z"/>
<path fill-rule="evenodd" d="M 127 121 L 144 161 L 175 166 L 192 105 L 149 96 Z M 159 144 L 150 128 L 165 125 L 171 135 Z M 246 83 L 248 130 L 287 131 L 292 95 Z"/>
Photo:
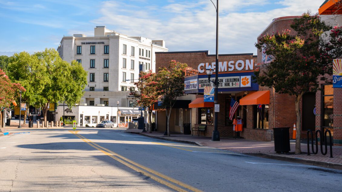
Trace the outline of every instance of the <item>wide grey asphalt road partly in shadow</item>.
<path fill-rule="evenodd" d="M 339 170 L 123 129 L 12 132 L 0 137 L 0 191 L 342 191 Z"/>

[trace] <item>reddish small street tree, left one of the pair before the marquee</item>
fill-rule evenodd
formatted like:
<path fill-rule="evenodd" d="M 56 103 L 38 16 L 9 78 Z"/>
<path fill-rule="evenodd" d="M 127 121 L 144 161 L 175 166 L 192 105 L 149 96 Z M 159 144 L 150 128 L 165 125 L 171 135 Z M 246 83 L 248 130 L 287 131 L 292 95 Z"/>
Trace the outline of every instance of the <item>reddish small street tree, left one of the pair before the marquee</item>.
<path fill-rule="evenodd" d="M 139 106 L 148 107 L 148 119 L 150 122 L 149 133 L 152 133 L 152 106 L 158 101 L 159 94 L 157 89 L 157 75 L 151 70 L 148 72 L 140 72 L 139 81 L 134 85 L 139 91 L 131 91 L 130 95 L 134 95 L 134 99 Z"/>

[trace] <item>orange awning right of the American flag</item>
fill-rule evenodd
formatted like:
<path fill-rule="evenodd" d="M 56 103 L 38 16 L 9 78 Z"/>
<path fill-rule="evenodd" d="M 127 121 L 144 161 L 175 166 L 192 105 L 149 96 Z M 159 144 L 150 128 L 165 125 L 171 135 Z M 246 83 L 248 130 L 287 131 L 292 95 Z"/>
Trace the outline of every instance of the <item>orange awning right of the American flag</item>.
<path fill-rule="evenodd" d="M 240 105 L 269 104 L 269 91 L 256 91 L 240 99 Z"/>

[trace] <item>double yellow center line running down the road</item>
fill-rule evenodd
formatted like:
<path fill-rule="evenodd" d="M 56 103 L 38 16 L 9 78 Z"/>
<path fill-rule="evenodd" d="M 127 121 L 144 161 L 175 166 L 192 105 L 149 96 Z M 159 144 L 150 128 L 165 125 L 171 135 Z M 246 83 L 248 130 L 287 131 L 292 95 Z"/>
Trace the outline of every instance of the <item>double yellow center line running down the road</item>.
<path fill-rule="evenodd" d="M 90 146 L 94 147 L 95 149 L 103 152 L 104 154 L 106 154 L 107 156 L 115 159 L 116 161 L 126 165 L 127 167 L 130 167 L 131 169 L 135 170 L 136 172 L 140 172 L 142 174 L 144 174 L 145 176 L 148 176 L 150 177 L 151 179 L 161 183 L 161 184 L 164 184 L 165 186 L 168 186 L 169 188 L 171 189 L 174 189 L 176 191 L 187 191 L 181 187 L 184 187 L 186 189 L 189 189 L 191 191 L 196 191 L 196 192 L 200 192 L 201 190 L 199 189 L 196 189 L 192 186 L 189 186 L 188 184 L 185 184 L 181 181 L 178 181 L 176 179 L 173 179 L 171 177 L 168 177 L 166 175 L 163 175 L 159 172 L 156 172 L 154 171 L 153 169 L 150 169 L 148 167 L 145 167 L 143 165 L 140 165 L 132 160 L 129 160 L 123 156 L 120 156 L 119 154 L 109 150 L 109 149 L 106 149 L 100 145 L 97 145 L 96 143 L 90 141 L 89 139 L 87 139 L 86 137 L 78 134 L 79 131 L 70 131 L 71 133 L 73 133 L 74 135 L 76 135 L 78 138 L 82 139 L 82 141 L 86 142 L 87 144 L 89 144 Z M 176 185 L 178 186 L 176 186 Z M 179 187 L 181 186 L 181 187 Z"/>

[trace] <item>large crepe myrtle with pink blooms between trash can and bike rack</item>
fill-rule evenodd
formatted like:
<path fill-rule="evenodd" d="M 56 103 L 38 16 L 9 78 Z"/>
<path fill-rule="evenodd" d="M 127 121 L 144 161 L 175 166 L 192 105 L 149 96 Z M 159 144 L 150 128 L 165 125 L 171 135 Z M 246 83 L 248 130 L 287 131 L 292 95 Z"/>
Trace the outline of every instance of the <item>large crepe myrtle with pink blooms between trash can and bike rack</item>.
<path fill-rule="evenodd" d="M 305 92 L 316 92 L 319 80 L 329 82 L 325 74 L 332 74 L 331 49 L 319 48 L 329 45 L 324 35 L 331 29 L 324 21 L 309 12 L 295 18 L 290 30 L 274 34 L 264 34 L 255 44 L 272 61 L 263 64 L 255 71 L 254 81 L 261 86 L 273 87 L 278 93 L 295 96 L 295 113 L 297 116 L 297 137 L 295 154 L 301 153 L 300 136 L 301 111 L 300 100 Z"/>

